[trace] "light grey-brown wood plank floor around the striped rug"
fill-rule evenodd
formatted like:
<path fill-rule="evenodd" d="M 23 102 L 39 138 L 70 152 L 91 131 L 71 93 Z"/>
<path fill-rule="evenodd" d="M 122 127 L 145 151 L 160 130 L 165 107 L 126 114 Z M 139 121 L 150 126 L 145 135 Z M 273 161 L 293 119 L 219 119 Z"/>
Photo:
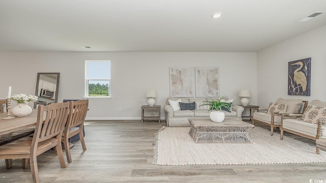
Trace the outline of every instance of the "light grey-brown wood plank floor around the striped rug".
<path fill-rule="evenodd" d="M 276 165 L 153 165 L 155 133 L 166 123 L 140 120 L 97 121 L 85 126 L 87 150 L 79 141 L 72 163 L 60 168 L 53 150 L 38 156 L 41 182 L 309 182 L 326 179 L 326 163 Z M 276 130 L 279 132 L 279 130 Z M 279 135 L 279 134 L 275 134 Z M 286 133 L 311 145 L 314 141 Z M 65 154 L 64 154 L 65 155 Z M 255 155 L 252 155 L 255 156 Z M 66 157 L 65 157 L 66 160 Z M 67 161 L 66 161 L 67 162 Z M 0 161 L 0 182 L 32 182 L 30 167 Z"/>

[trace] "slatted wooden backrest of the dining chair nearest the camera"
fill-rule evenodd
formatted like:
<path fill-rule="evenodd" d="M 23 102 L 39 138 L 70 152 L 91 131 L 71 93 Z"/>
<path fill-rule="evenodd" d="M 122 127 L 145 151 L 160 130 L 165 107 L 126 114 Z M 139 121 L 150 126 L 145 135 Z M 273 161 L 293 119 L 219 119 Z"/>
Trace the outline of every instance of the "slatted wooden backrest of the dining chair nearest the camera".
<path fill-rule="evenodd" d="M 67 123 L 68 111 L 69 103 L 40 105 L 33 141 L 38 143 L 56 136 L 61 137 Z"/>

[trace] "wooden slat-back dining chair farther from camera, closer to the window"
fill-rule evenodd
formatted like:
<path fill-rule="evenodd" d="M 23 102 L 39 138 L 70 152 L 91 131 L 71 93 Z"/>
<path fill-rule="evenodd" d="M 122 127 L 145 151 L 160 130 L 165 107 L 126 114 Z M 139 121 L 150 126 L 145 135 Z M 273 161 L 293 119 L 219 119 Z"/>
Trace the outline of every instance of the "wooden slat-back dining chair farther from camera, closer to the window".
<path fill-rule="evenodd" d="M 87 99 L 87 100 L 70 101 L 69 104 L 67 125 L 62 135 L 62 141 L 65 146 L 67 161 L 69 163 L 72 162 L 70 148 L 69 148 L 69 138 L 71 138 L 76 134 L 79 134 L 79 138 L 80 138 L 80 142 L 82 143 L 83 150 L 86 150 L 83 128 L 84 128 L 85 117 L 88 111 L 88 103 L 89 101 Z"/>

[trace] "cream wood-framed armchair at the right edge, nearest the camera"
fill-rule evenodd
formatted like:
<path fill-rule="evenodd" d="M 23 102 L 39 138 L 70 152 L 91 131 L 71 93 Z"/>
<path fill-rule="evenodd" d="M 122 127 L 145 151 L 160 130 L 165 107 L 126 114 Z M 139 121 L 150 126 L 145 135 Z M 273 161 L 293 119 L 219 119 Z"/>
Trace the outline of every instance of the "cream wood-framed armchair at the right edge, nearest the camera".
<path fill-rule="evenodd" d="M 326 107 L 326 102 L 321 102 L 320 100 L 313 100 L 310 104 L 314 106 Z M 307 113 L 309 112 L 309 110 L 306 111 Z M 280 127 L 281 140 L 283 139 L 284 131 L 312 140 L 326 139 L 326 125 L 322 125 L 320 122 L 317 124 L 312 124 L 303 120 L 299 120 L 299 118 L 304 114 L 282 114 Z M 286 116 L 296 116 L 298 118 L 285 118 Z"/>

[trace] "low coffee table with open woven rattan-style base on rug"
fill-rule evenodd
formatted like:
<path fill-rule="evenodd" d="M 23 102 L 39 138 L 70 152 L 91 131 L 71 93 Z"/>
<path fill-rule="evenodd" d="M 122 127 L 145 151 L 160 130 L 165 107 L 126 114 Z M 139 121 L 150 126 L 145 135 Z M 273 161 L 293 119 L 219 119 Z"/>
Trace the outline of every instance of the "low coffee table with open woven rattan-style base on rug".
<path fill-rule="evenodd" d="M 249 130 L 254 126 L 238 118 L 215 123 L 209 118 L 189 118 L 189 135 L 196 143 L 252 143 Z"/>

